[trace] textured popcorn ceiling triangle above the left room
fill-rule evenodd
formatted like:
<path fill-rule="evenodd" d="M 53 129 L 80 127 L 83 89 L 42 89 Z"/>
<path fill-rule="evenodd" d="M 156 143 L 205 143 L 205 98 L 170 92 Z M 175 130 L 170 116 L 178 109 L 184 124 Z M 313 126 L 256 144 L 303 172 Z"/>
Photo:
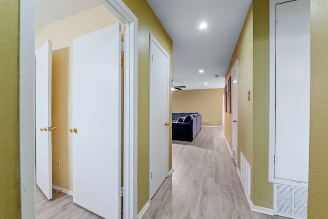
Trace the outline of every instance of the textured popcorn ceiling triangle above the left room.
<path fill-rule="evenodd" d="M 98 0 L 35 0 L 35 28 L 101 5 Z"/>

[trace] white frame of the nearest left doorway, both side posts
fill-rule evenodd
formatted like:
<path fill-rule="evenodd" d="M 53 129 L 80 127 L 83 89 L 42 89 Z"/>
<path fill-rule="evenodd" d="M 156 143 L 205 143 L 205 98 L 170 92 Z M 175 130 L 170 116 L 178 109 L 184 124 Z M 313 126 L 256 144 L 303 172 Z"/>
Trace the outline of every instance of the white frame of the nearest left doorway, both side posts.
<path fill-rule="evenodd" d="M 124 24 L 124 218 L 137 218 L 138 19 L 122 0 L 99 0 Z M 21 218 L 35 218 L 35 0 L 19 3 Z M 131 161 L 131 162 L 130 162 Z"/>

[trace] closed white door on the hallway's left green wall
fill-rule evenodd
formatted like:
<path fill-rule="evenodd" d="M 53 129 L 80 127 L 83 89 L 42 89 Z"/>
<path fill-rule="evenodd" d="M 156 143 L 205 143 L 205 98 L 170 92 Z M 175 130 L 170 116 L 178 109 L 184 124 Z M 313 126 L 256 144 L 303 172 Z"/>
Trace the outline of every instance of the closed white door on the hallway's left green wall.
<path fill-rule="evenodd" d="M 154 196 L 169 172 L 170 56 L 151 35 L 149 109 L 149 195 Z"/>

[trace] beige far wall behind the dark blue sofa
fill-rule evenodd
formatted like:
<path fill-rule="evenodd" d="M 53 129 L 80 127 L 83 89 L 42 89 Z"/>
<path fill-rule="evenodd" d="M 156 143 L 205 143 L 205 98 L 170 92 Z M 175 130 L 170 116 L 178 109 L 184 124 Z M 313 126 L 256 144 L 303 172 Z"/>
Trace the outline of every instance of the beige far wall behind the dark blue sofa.
<path fill-rule="evenodd" d="M 223 88 L 172 91 L 172 112 L 199 112 L 203 126 L 222 126 L 222 94 Z"/>

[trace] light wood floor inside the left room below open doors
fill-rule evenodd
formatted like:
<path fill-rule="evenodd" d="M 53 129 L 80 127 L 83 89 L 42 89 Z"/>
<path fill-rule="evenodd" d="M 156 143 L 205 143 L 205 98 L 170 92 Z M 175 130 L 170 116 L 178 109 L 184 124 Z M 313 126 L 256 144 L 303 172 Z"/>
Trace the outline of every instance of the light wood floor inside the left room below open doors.
<path fill-rule="evenodd" d="M 71 195 L 62 192 L 56 193 L 52 190 L 52 200 L 49 201 L 42 193 L 39 187 L 36 186 L 36 218 L 37 219 L 100 219 L 103 217 L 98 216 L 85 208 L 80 207 L 73 203 Z"/>

